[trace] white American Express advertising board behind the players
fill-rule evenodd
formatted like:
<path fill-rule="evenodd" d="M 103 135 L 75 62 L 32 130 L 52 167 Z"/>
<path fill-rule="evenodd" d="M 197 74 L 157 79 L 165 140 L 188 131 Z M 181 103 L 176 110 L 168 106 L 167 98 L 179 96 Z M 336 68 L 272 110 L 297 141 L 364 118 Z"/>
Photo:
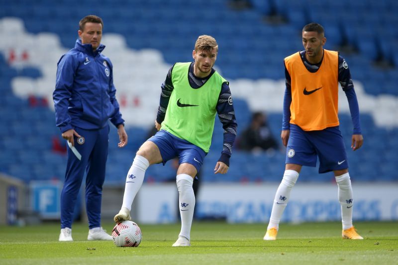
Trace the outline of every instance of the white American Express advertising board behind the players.
<path fill-rule="evenodd" d="M 196 199 L 198 218 L 225 218 L 230 223 L 268 223 L 279 183 L 205 183 Z M 398 184 L 353 183 L 353 219 L 398 220 Z M 175 184 L 143 185 L 139 192 L 141 223 L 172 223 L 177 215 Z M 337 184 L 297 183 L 283 222 L 341 220 Z"/>

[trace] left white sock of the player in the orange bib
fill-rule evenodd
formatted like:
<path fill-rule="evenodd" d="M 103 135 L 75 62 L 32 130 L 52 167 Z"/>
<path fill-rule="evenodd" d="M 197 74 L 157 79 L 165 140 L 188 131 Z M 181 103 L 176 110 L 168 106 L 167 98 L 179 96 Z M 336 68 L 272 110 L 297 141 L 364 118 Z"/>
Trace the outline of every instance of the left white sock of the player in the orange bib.
<path fill-rule="evenodd" d="M 283 211 L 288 205 L 290 192 L 293 186 L 296 184 L 298 179 L 298 172 L 294 170 L 285 170 L 282 182 L 278 187 L 277 193 L 275 194 L 274 204 L 272 206 L 270 223 L 268 224 L 267 230 L 273 227 L 279 228 L 279 222 L 281 221 Z"/>

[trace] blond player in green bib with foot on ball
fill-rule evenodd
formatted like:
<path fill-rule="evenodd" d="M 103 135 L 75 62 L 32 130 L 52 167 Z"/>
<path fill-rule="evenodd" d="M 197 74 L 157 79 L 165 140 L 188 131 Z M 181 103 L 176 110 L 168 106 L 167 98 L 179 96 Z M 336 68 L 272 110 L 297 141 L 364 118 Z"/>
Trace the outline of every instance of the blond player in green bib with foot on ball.
<path fill-rule="evenodd" d="M 192 52 L 194 62 L 176 63 L 162 85 L 155 126 L 158 132 L 138 150 L 127 173 L 123 204 L 114 221 L 130 220 L 131 204 L 144 180 L 146 169 L 178 157 L 177 188 L 181 214 L 181 232 L 173 247 L 191 246 L 194 215 L 194 177 L 209 151 L 215 114 L 223 124 L 223 151 L 215 165 L 215 174 L 229 168 L 237 124 L 228 82 L 212 67 L 218 45 L 211 36 L 199 36 Z"/>

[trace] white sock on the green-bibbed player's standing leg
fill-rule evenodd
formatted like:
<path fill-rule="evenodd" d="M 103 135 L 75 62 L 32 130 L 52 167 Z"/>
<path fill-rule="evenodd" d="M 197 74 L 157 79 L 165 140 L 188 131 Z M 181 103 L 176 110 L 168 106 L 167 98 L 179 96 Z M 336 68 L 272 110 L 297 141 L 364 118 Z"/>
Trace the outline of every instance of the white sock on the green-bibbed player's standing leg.
<path fill-rule="evenodd" d="M 194 189 L 192 188 L 193 183 L 193 177 L 187 174 L 177 175 L 177 188 L 181 215 L 181 232 L 179 236 L 185 237 L 188 240 L 191 240 L 191 225 L 195 209 L 195 194 Z"/>

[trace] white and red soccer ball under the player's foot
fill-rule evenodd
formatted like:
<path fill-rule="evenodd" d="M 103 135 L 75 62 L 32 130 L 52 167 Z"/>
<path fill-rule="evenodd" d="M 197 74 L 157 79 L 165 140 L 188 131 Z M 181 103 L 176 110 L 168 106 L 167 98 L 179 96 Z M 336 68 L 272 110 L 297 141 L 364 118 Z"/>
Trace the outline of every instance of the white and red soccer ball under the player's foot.
<path fill-rule="evenodd" d="M 113 242 L 117 247 L 138 247 L 141 243 L 141 229 L 131 221 L 117 223 L 112 230 Z"/>

